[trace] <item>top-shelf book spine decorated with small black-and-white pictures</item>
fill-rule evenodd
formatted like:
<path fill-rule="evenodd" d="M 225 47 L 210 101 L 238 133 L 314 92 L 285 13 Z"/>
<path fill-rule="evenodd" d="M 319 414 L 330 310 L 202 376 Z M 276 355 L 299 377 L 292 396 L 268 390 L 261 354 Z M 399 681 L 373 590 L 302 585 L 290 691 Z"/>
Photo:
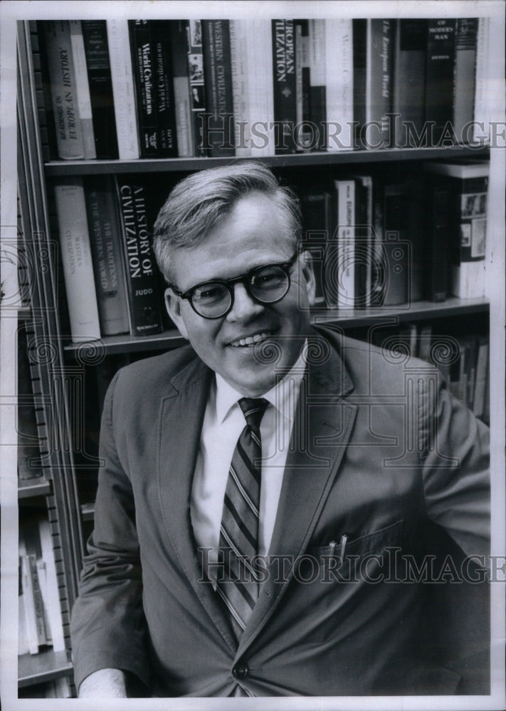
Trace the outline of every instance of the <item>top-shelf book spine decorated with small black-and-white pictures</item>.
<path fill-rule="evenodd" d="M 195 155 L 205 157 L 206 149 L 206 94 L 204 55 L 202 54 L 202 28 L 200 20 L 186 21 L 186 58 L 190 87 L 191 129 L 194 137 Z"/>

